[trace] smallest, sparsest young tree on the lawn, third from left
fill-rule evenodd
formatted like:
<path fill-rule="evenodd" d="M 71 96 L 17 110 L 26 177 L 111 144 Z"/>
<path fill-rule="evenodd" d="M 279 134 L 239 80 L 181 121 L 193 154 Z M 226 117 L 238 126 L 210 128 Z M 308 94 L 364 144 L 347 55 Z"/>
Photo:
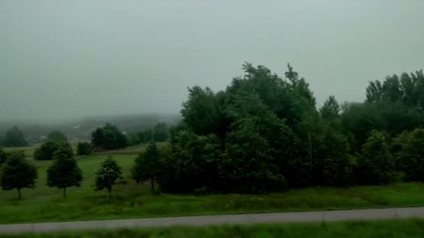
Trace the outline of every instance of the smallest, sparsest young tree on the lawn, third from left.
<path fill-rule="evenodd" d="M 96 172 L 96 184 L 94 184 L 96 191 L 106 189 L 110 198 L 114 184 L 123 183 L 125 182 L 123 181 L 121 166 L 112 157 L 107 157 Z"/>

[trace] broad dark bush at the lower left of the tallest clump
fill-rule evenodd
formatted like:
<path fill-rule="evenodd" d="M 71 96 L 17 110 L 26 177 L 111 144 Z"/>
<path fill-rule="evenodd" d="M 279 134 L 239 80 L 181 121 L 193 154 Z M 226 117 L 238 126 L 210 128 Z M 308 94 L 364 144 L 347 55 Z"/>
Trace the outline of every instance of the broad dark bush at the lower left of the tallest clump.
<path fill-rule="evenodd" d="M 222 151 L 218 136 L 197 136 L 178 129 L 172 132 L 172 141 L 170 148 L 161 151 L 160 188 L 173 192 L 218 189 L 218 160 Z"/>

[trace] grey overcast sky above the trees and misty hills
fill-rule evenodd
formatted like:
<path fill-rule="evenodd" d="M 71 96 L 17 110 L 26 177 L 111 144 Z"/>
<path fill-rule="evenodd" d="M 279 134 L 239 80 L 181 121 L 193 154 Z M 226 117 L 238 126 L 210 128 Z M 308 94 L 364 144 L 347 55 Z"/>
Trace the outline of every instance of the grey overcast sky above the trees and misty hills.
<path fill-rule="evenodd" d="M 319 103 L 424 63 L 423 0 L 0 0 L 0 120 L 178 112 L 243 61 Z"/>

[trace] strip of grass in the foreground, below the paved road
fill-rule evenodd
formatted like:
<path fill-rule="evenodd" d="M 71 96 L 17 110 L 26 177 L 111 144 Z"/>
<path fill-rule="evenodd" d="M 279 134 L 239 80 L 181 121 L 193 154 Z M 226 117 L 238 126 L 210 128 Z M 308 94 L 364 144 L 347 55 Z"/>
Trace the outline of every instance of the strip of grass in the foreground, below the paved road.
<path fill-rule="evenodd" d="M 15 237 L 15 236 L 13 236 Z M 424 220 L 357 221 L 343 223 L 222 225 L 143 230 L 80 231 L 19 237 L 424 237 Z"/>

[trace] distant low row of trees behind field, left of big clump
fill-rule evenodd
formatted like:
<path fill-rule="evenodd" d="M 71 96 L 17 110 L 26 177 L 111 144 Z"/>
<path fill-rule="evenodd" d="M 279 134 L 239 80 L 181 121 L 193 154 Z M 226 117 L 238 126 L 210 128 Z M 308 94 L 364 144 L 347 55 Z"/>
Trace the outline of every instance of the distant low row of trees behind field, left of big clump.
<path fill-rule="evenodd" d="M 128 145 L 140 145 L 149 141 L 167 141 L 169 138 L 169 128 L 165 122 L 159 122 L 153 128 L 144 129 L 142 132 L 128 134 Z"/>

